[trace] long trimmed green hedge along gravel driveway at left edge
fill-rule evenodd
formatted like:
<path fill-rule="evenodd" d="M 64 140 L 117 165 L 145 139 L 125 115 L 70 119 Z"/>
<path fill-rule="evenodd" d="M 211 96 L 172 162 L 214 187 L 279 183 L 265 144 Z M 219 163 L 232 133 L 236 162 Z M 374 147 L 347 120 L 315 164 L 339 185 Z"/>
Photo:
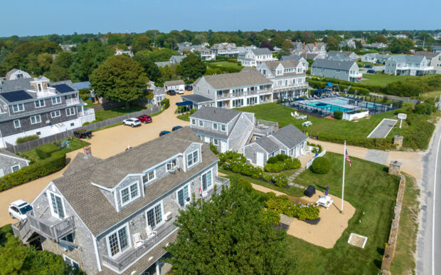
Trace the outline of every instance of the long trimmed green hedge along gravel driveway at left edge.
<path fill-rule="evenodd" d="M 0 177 L 0 191 L 8 190 L 17 185 L 23 185 L 23 183 L 36 180 L 38 177 L 44 177 L 53 172 L 57 172 L 65 167 L 65 165 L 65 154 L 55 153 L 46 160 L 35 162 L 29 166 L 21 168 L 21 170 Z"/>

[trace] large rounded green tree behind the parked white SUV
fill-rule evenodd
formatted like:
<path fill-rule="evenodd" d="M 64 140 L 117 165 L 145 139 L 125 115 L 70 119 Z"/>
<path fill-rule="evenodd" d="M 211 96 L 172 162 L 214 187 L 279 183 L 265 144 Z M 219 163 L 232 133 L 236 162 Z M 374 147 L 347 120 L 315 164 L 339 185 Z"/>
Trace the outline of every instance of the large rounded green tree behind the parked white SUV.
<path fill-rule="evenodd" d="M 90 87 L 99 96 L 109 100 L 129 103 L 145 95 L 147 74 L 141 64 L 129 56 L 110 56 L 90 76 Z"/>

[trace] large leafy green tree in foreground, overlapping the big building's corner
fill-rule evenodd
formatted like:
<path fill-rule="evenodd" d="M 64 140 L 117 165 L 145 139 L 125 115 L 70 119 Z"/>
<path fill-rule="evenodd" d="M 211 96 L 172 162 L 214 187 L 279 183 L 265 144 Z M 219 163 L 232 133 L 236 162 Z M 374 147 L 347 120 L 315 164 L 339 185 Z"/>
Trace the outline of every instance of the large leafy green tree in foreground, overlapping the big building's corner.
<path fill-rule="evenodd" d="M 232 182 L 211 202 L 199 199 L 180 212 L 166 261 L 174 274 L 292 274 L 286 233 L 274 230 L 268 215 L 253 193 Z"/>

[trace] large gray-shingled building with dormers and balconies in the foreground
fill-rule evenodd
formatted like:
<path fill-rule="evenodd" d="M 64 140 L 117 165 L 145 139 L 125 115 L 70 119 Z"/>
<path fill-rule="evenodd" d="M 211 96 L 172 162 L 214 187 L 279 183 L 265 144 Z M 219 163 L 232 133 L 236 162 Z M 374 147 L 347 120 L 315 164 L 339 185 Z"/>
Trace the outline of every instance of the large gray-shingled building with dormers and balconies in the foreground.
<path fill-rule="evenodd" d="M 179 210 L 229 185 L 217 164 L 188 127 L 105 160 L 79 153 L 14 234 L 87 274 L 165 274 L 163 247 L 176 239 Z"/>

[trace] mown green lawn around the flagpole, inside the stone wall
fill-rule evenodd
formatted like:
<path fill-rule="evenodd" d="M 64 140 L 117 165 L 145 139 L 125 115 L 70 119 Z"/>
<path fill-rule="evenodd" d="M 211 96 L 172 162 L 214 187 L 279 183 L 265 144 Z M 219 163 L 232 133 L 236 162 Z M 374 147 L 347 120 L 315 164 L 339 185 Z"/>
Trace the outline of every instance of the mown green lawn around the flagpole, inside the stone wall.
<path fill-rule="evenodd" d="M 317 175 L 305 170 L 294 181 L 299 185 L 314 185 L 323 191 L 329 185 L 329 193 L 341 197 L 343 155 L 327 152 L 324 157 L 331 162 L 328 174 Z M 356 208 L 354 217 L 349 220 L 349 227 L 332 249 L 287 237 L 286 244 L 289 254 L 297 261 L 298 274 L 380 273 L 399 180 L 388 175 L 383 165 L 356 157 L 351 157 L 351 161 L 352 167 L 346 165 L 344 199 Z M 351 232 L 368 237 L 364 249 L 348 244 Z"/>

